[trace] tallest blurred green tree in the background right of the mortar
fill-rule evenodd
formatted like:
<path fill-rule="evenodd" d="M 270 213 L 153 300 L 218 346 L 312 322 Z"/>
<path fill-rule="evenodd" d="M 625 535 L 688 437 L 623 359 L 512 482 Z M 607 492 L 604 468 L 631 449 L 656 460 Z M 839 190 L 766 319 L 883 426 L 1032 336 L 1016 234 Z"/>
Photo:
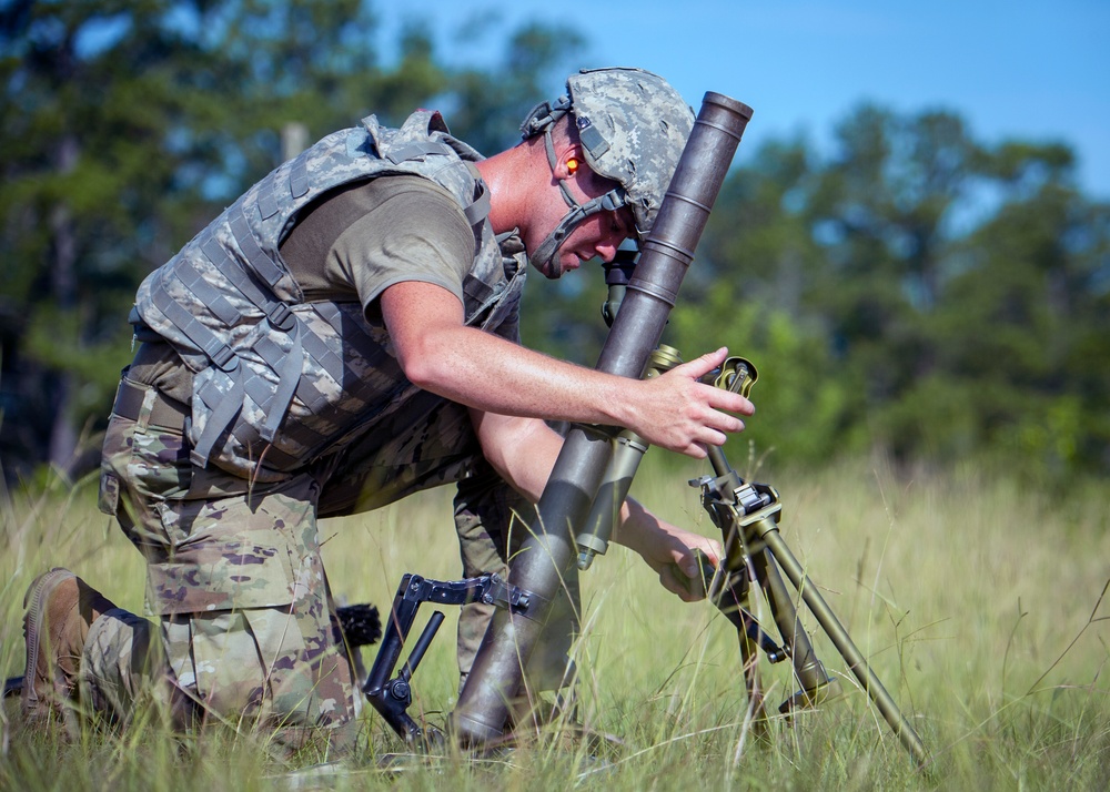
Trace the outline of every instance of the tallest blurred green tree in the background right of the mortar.
<path fill-rule="evenodd" d="M 868 422 L 896 454 L 905 435 L 887 434 L 876 416 L 934 369 L 926 326 L 977 156 L 952 114 L 900 118 L 865 106 L 839 125 L 814 191 L 809 222 L 825 256 L 808 298 L 820 304 L 836 347 L 850 349 L 852 423 Z"/>

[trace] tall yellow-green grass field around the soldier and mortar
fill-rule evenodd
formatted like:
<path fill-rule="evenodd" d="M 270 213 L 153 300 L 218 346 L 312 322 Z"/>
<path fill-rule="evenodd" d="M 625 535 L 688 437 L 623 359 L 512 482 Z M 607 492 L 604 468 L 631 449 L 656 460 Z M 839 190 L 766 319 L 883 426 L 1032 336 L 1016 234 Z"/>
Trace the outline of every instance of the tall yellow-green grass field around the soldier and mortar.
<path fill-rule="evenodd" d="M 672 521 L 716 529 L 685 481 L 648 465 L 634 494 Z M 769 476 L 757 476 L 767 479 Z M 745 723 L 735 630 L 705 602 L 666 593 L 637 557 L 614 548 L 583 578 L 577 649 L 582 713 L 623 745 L 605 755 L 548 744 L 468 761 L 373 763 L 301 786 L 463 790 L 941 789 L 1110 786 L 1110 517 L 1104 483 L 1040 490 L 971 469 L 915 476 L 866 463 L 776 474 L 783 535 L 851 632 L 932 757 L 918 771 L 823 634 L 818 656 L 847 695 L 769 739 Z M 63 565 L 141 608 L 138 554 L 97 512 L 91 483 L 2 505 L 0 666 L 22 672 L 21 599 Z M 387 606 L 405 571 L 457 577 L 450 491 L 324 524 L 333 589 Z M 1110 598 L 1108 598 L 1110 599 Z M 757 603 L 758 605 L 758 603 Z M 432 722 L 454 705 L 454 618 L 414 682 Z M 804 616 L 807 627 L 815 622 Z M 769 623 L 769 621 L 768 621 Z M 417 625 L 418 627 L 420 625 Z M 372 656 L 367 653 L 367 662 Z M 794 691 L 765 666 L 771 709 Z M 18 708 L 17 708 L 18 710 Z M 255 739 L 181 741 L 154 727 L 77 743 L 21 729 L 4 709 L 0 790 L 285 789 L 296 770 Z M 371 759 L 400 751 L 365 714 Z M 296 778 L 296 776 L 294 776 Z"/>

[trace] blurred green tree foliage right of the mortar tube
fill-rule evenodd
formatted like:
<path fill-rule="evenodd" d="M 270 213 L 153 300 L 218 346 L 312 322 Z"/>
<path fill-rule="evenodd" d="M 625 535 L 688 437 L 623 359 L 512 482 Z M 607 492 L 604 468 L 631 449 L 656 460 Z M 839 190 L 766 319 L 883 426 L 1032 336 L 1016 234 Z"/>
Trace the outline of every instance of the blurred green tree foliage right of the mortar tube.
<path fill-rule="evenodd" d="M 675 323 L 690 354 L 710 326 L 765 363 L 749 439 L 801 461 L 1110 470 L 1110 207 L 1068 146 L 864 106 L 824 159 L 771 143 L 754 162 L 694 265 L 708 299 Z"/>

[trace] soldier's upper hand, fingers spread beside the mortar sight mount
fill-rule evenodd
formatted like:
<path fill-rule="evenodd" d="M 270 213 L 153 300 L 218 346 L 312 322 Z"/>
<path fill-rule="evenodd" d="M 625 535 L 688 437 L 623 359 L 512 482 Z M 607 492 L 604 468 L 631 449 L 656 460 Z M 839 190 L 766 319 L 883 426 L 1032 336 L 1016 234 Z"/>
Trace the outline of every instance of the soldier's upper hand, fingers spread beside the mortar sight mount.
<path fill-rule="evenodd" d="M 755 413 L 739 394 L 699 382 L 727 356 L 728 349 L 722 347 L 644 382 L 646 404 L 629 428 L 654 446 L 695 459 L 705 458 L 706 446 L 724 445 L 729 433 L 744 429 L 744 422 L 729 413 Z"/>

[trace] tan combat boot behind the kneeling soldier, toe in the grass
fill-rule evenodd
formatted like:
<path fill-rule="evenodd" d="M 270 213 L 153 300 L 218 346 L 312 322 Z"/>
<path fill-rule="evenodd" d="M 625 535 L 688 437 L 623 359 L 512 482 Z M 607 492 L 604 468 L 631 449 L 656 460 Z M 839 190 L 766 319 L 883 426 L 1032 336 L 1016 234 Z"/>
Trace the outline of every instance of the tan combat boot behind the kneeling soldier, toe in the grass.
<path fill-rule="evenodd" d="M 29 722 L 46 722 L 51 714 L 61 715 L 72 733 L 77 719 L 67 702 L 77 699 L 84 639 L 92 622 L 115 606 L 73 572 L 56 567 L 34 579 L 23 607 L 23 717 Z"/>

